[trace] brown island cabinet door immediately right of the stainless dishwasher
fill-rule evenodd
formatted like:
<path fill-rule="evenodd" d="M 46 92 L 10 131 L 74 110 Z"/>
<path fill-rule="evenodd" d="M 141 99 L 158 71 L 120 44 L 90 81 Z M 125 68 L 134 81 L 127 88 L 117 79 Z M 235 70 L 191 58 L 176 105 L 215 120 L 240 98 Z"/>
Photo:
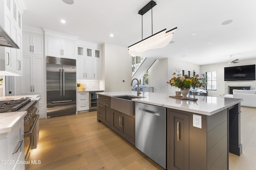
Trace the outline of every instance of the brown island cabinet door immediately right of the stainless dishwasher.
<path fill-rule="evenodd" d="M 167 169 L 189 170 L 189 115 L 169 111 L 167 128 Z"/>

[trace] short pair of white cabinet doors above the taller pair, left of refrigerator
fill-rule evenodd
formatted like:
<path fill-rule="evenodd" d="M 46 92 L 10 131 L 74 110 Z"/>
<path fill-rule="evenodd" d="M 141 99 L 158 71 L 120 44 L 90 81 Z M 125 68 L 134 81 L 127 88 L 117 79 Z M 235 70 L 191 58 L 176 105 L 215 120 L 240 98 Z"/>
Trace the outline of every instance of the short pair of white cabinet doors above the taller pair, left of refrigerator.
<path fill-rule="evenodd" d="M 22 33 L 22 51 L 23 53 L 44 55 L 44 37 L 43 35 L 33 33 Z"/>

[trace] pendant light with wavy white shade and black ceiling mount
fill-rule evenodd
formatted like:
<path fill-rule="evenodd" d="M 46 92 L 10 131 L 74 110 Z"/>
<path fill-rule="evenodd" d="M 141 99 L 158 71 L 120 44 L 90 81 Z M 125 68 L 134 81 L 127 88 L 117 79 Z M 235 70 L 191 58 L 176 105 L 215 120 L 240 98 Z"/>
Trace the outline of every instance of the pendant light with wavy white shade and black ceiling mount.
<path fill-rule="evenodd" d="M 165 47 L 172 40 L 172 35 L 174 31 L 177 29 L 177 27 L 169 31 L 166 31 L 166 29 L 163 29 L 162 31 L 159 31 L 158 33 L 155 33 L 153 35 L 152 8 L 154 6 L 156 6 L 156 2 L 151 1 L 138 12 L 138 14 L 140 14 L 142 17 L 144 14 L 146 14 L 146 12 L 148 12 L 151 9 L 152 35 L 143 39 L 143 26 L 142 26 L 142 40 L 128 47 L 128 51 L 131 56 L 138 56 L 148 49 L 157 49 L 157 48 Z M 143 18 L 142 18 L 142 24 L 143 24 Z"/>

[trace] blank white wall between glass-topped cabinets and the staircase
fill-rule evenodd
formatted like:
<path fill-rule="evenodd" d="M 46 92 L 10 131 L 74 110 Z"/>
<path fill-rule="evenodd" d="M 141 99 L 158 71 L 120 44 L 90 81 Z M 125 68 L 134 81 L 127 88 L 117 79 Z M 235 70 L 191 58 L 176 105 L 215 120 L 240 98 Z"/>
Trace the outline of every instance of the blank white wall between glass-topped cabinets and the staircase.
<path fill-rule="evenodd" d="M 128 49 L 104 43 L 102 45 L 102 82 L 105 92 L 131 91 L 132 57 Z M 123 82 L 124 80 L 124 82 Z"/>

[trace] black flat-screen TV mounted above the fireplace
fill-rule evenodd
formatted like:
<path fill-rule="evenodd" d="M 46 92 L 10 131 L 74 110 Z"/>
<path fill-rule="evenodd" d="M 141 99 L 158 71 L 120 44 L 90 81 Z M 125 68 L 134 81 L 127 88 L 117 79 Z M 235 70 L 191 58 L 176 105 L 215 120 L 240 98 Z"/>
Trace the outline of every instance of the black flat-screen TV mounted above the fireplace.
<path fill-rule="evenodd" d="M 255 64 L 224 67 L 224 81 L 255 80 Z"/>

